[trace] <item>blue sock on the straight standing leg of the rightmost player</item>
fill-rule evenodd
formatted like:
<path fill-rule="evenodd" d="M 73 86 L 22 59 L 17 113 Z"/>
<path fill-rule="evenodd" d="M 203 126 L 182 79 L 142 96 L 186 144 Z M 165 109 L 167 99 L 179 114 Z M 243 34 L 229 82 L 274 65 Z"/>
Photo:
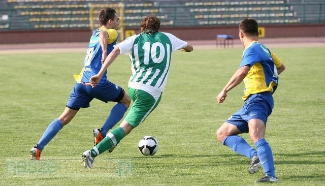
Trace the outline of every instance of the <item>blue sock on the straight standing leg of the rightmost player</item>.
<path fill-rule="evenodd" d="M 257 156 L 262 163 L 265 175 L 275 176 L 275 167 L 273 162 L 272 149 L 265 139 L 260 139 L 255 142 L 257 148 Z"/>

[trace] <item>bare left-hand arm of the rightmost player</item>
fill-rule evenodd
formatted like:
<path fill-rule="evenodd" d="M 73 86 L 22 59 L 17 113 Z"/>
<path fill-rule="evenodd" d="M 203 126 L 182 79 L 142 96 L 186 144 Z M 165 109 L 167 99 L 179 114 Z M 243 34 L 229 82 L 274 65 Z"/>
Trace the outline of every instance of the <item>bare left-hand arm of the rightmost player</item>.
<path fill-rule="evenodd" d="M 217 102 L 223 103 L 225 98 L 227 97 L 227 92 L 229 92 L 231 89 L 239 85 L 243 79 L 248 74 L 248 71 L 250 69 L 249 65 L 243 66 L 239 68 L 234 75 L 230 78 L 228 83 L 224 86 L 224 88 L 220 91 L 220 93 L 217 96 Z"/>

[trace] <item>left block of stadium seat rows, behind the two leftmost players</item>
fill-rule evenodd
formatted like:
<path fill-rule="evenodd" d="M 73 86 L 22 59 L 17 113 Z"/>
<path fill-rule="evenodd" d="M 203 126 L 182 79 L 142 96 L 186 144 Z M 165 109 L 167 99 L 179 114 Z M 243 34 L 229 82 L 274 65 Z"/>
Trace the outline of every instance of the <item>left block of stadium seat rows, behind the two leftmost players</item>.
<path fill-rule="evenodd" d="M 95 1 L 96 4 L 118 7 L 126 1 Z M 7 8 L 15 24 L 11 29 L 32 28 L 84 28 L 89 27 L 89 3 L 87 0 L 7 0 Z M 124 4 L 124 26 L 138 26 L 144 15 L 157 14 L 159 9 L 151 1 L 132 1 Z M 5 14 L 5 13 L 4 13 Z M 164 17 L 161 17 L 164 19 Z M 26 21 L 27 20 L 27 21 Z"/>

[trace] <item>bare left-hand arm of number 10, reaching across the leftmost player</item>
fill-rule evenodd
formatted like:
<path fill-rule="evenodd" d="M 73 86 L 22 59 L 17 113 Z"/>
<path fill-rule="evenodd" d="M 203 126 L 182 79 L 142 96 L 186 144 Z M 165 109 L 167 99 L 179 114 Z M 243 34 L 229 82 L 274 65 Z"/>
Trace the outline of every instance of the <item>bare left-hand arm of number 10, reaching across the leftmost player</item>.
<path fill-rule="evenodd" d="M 101 70 L 98 72 L 98 74 L 91 76 L 89 82 L 91 84 L 91 87 L 95 87 L 103 77 L 103 74 L 107 70 L 107 68 L 113 63 L 113 61 L 116 59 L 116 57 L 120 54 L 119 47 L 115 47 L 114 50 L 106 57 Z"/>

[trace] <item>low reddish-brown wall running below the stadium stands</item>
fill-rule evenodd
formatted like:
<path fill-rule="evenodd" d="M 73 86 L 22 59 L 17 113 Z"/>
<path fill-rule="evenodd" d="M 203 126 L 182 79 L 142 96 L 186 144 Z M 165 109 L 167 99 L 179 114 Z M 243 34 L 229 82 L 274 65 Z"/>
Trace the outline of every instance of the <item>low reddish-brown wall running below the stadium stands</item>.
<path fill-rule="evenodd" d="M 325 37 L 325 24 L 261 25 L 265 38 Z M 136 33 L 139 28 L 130 28 Z M 238 26 L 165 27 L 162 32 L 182 40 L 213 40 L 217 34 L 233 35 L 239 39 Z M 89 29 L 15 30 L 0 32 L 0 44 L 88 42 Z"/>

